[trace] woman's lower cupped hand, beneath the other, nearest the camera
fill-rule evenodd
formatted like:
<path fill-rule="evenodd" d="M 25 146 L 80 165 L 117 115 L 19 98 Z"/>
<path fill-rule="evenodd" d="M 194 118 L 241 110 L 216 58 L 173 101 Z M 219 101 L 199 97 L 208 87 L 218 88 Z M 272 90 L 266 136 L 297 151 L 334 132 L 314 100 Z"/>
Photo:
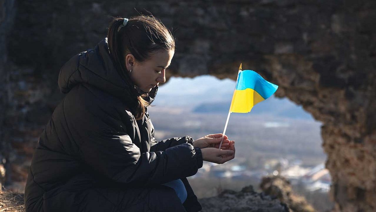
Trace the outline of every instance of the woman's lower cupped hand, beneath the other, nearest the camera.
<path fill-rule="evenodd" d="M 203 148 L 201 153 L 202 160 L 222 164 L 235 157 L 235 143 L 230 141 L 229 149 Z"/>

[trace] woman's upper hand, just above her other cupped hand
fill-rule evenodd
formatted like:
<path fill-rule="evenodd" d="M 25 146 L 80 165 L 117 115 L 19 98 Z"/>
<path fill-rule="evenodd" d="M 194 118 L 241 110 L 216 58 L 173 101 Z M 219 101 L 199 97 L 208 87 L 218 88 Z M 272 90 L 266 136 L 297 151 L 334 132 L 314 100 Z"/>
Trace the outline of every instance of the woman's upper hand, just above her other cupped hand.
<path fill-rule="evenodd" d="M 221 140 L 222 140 L 222 136 L 223 136 L 222 133 L 210 134 L 210 135 L 204 136 L 202 138 L 195 140 L 193 142 L 193 146 L 195 148 L 199 147 L 200 149 L 206 148 L 206 147 L 214 147 L 218 149 L 219 144 L 221 143 Z M 228 139 L 226 135 L 224 135 L 221 149 L 229 149 L 229 144 L 230 144 L 230 140 Z"/>

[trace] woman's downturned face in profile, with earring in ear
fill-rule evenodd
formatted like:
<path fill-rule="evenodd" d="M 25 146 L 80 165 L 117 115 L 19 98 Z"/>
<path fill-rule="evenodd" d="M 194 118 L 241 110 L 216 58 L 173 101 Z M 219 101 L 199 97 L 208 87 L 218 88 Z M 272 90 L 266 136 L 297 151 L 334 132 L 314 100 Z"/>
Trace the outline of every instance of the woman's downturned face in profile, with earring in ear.
<path fill-rule="evenodd" d="M 138 63 L 132 54 L 125 58 L 126 67 L 130 72 L 130 78 L 141 90 L 150 92 L 159 82 L 166 81 L 165 71 L 171 64 L 174 51 L 161 50 L 152 53 L 151 57 L 142 63 Z"/>

